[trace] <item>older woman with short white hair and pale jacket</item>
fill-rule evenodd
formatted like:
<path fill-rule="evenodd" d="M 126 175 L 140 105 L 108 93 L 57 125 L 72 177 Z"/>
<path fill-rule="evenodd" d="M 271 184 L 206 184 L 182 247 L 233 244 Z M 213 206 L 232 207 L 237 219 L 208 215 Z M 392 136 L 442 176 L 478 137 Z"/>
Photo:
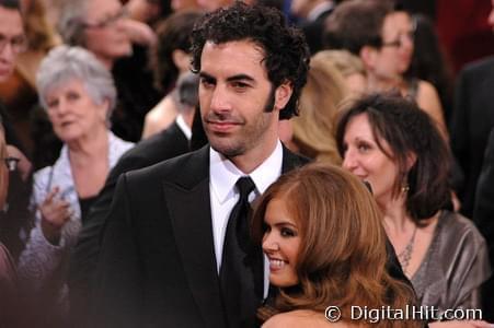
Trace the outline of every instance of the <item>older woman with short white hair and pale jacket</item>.
<path fill-rule="evenodd" d="M 116 91 L 108 70 L 89 51 L 59 46 L 42 61 L 36 77 L 39 99 L 64 142 L 53 166 L 34 175 L 36 223 L 19 260 L 19 273 L 43 311 L 67 308 L 67 267 L 81 221 L 104 186 L 110 169 L 133 147 L 108 130 Z M 36 301 L 39 302 L 39 301 Z M 61 304 L 60 304 L 61 302 Z"/>

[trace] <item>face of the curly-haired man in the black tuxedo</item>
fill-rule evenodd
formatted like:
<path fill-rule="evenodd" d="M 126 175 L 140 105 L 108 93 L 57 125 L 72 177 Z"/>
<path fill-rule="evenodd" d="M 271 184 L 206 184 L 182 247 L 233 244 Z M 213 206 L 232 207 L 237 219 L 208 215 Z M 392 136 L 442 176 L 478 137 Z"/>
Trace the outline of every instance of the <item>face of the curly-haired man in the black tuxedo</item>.
<path fill-rule="evenodd" d="M 291 86 L 274 89 L 264 51 L 249 40 L 206 43 L 200 58 L 199 103 L 209 143 L 229 159 L 264 160 L 277 140 L 279 108 Z M 267 108 L 269 107 L 269 108 Z"/>

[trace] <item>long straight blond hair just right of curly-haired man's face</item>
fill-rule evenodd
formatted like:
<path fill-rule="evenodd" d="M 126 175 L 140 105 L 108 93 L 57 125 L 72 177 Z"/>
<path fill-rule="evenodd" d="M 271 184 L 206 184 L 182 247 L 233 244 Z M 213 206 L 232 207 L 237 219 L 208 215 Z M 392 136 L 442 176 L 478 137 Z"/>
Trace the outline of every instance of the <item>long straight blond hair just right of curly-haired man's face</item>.
<path fill-rule="evenodd" d="M 312 57 L 300 94 L 300 115 L 290 120 L 296 151 L 317 161 L 341 164 L 334 124 L 337 106 L 347 94 L 345 80 L 335 67 L 321 56 Z"/>

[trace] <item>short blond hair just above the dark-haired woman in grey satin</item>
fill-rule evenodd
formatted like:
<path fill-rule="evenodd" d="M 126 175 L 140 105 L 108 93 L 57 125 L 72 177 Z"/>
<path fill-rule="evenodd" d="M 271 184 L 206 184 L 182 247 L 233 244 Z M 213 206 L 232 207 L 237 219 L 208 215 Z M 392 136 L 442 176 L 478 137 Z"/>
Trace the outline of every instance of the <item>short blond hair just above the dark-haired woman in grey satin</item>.
<path fill-rule="evenodd" d="M 328 60 L 345 78 L 346 86 L 356 94 L 367 90 L 367 72 L 360 58 L 347 50 L 322 50 L 313 56 Z M 313 60 L 312 59 L 312 60 Z"/>

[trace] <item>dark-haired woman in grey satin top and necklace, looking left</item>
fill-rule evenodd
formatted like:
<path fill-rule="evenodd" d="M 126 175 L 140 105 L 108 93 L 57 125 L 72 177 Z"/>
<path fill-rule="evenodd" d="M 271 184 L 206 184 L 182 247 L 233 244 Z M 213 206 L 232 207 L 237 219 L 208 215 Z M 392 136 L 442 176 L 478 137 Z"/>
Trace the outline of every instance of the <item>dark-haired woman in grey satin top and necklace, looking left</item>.
<path fill-rule="evenodd" d="M 485 241 L 470 220 L 446 209 L 450 155 L 432 119 L 400 95 L 371 94 L 343 112 L 336 142 L 343 166 L 371 185 L 422 305 L 480 308 L 479 288 L 491 276 Z M 485 325 L 433 325 L 457 324 Z"/>

